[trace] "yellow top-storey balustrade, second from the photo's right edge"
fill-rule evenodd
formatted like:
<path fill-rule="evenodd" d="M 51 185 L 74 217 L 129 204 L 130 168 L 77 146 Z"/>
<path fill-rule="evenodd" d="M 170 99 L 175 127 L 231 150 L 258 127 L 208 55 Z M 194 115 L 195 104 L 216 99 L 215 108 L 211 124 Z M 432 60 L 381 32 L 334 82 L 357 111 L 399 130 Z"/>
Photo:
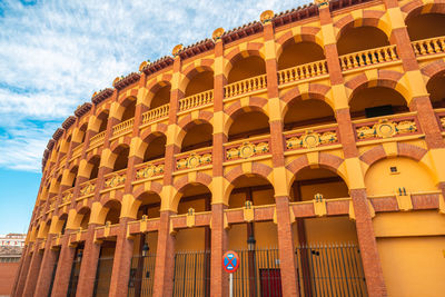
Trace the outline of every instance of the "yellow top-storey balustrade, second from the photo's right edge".
<path fill-rule="evenodd" d="M 369 49 L 339 57 L 342 70 L 397 60 L 396 46 Z"/>

